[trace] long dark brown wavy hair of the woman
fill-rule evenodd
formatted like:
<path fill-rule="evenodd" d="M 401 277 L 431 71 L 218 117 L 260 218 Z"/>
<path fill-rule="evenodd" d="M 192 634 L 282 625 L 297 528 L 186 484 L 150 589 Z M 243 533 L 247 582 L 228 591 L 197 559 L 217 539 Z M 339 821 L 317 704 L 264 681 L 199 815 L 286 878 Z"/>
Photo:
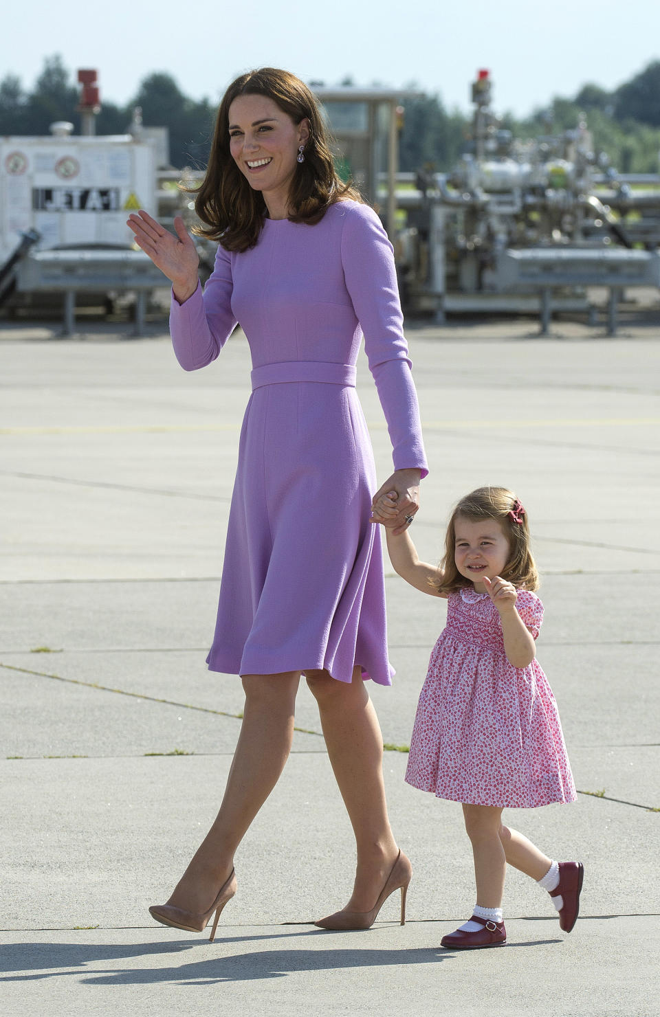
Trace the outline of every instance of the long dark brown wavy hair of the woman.
<path fill-rule="evenodd" d="M 296 168 L 289 195 L 292 223 L 313 225 L 327 208 L 344 197 L 361 201 L 350 183 L 335 169 L 327 128 L 312 93 L 295 74 L 277 67 L 262 67 L 241 74 L 229 85 L 218 110 L 206 173 L 195 196 L 195 212 L 204 227 L 199 236 L 216 240 L 230 251 L 253 247 L 263 226 L 265 201 L 252 190 L 230 153 L 229 108 L 238 96 L 265 96 L 278 104 L 295 124 L 309 121 L 305 160 Z"/>

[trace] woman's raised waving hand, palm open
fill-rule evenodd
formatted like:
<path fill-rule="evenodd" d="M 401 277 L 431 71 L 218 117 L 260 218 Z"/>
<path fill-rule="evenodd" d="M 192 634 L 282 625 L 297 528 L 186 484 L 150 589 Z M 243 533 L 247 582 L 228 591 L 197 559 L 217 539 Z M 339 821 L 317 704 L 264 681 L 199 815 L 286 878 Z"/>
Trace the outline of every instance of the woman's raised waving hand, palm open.
<path fill-rule="evenodd" d="M 179 303 L 191 297 L 197 289 L 199 257 L 181 217 L 174 220 L 176 237 L 141 208 L 128 217 L 126 225 L 135 234 L 137 246 L 171 281 Z"/>

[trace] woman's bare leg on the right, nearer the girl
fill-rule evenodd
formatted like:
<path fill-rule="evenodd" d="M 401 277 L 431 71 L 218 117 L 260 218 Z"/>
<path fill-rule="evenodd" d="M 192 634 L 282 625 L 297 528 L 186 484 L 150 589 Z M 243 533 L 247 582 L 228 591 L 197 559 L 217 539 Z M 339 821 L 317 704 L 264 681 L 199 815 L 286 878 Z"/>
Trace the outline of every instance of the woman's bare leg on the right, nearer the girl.
<path fill-rule="evenodd" d="M 348 684 L 327 671 L 307 671 L 327 755 L 344 799 L 357 845 L 357 871 L 351 911 L 369 911 L 399 853 L 385 803 L 382 734 L 359 667 Z"/>

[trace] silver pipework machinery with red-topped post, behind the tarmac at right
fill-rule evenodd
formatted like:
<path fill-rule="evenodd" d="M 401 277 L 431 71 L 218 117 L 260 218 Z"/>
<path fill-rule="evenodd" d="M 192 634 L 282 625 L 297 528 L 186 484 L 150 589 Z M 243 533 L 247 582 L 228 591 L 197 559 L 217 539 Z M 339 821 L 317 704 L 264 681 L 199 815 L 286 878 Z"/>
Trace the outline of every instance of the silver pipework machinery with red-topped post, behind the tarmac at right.
<path fill-rule="evenodd" d="M 408 310 L 438 320 L 540 310 L 545 333 L 552 307 L 588 310 L 587 288 L 600 286 L 613 333 L 624 290 L 660 286 L 660 176 L 618 176 L 595 155 L 584 117 L 559 136 L 514 139 L 490 108 L 487 71 L 472 99 L 471 151 L 449 173 L 420 172 L 397 191 Z"/>

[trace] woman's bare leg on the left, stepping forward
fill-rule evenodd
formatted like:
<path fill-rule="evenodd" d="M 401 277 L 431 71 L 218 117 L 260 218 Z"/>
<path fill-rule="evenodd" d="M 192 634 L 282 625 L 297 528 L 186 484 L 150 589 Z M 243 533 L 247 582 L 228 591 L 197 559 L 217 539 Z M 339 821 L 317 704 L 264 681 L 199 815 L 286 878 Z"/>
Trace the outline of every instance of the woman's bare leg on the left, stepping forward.
<path fill-rule="evenodd" d="M 230 876 L 234 852 L 289 758 L 299 682 L 300 671 L 243 676 L 243 723 L 220 812 L 168 904 L 205 911 Z"/>

